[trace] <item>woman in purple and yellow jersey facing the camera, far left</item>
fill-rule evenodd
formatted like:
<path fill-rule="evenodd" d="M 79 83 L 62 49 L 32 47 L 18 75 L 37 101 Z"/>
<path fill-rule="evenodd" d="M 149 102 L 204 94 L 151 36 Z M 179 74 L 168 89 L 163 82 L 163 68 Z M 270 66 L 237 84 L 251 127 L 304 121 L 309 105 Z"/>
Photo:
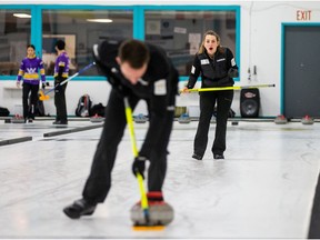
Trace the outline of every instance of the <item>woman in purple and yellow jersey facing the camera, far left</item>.
<path fill-rule="evenodd" d="M 46 74 L 43 62 L 34 53 L 33 44 L 28 44 L 27 57 L 21 61 L 17 78 L 17 87 L 20 88 L 22 83 L 22 104 L 24 122 L 32 122 L 34 119 L 34 109 L 38 101 L 39 91 L 39 70 L 41 74 L 42 89 L 46 88 Z M 28 102 L 29 93 L 31 92 L 30 106 Z"/>

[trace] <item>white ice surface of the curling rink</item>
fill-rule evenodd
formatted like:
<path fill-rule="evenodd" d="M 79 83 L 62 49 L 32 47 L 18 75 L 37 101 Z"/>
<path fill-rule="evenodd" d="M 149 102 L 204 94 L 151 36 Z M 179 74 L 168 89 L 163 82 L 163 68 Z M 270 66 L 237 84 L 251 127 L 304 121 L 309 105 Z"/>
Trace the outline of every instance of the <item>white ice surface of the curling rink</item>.
<path fill-rule="evenodd" d="M 69 121 L 67 129 L 92 126 Z M 62 209 L 81 198 L 102 128 L 63 131 L 51 121 L 0 121 L 2 239 L 304 239 L 320 167 L 320 123 L 228 122 L 224 160 L 213 160 L 211 124 L 202 161 L 191 158 L 198 121 L 174 122 L 163 194 L 174 220 L 163 231 L 133 231 L 139 200 L 128 129 L 118 149 L 112 188 L 94 214 L 71 220 Z M 136 123 L 138 146 L 147 123 Z"/>

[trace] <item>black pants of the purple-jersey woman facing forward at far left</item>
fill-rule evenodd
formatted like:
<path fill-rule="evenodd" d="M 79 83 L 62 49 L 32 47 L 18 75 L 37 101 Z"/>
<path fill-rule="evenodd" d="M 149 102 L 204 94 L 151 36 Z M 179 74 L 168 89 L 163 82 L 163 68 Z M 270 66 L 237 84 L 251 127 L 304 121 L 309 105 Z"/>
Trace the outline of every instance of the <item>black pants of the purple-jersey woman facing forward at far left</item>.
<path fill-rule="evenodd" d="M 23 118 L 24 119 L 34 119 L 34 108 L 38 102 L 38 91 L 39 84 L 24 83 L 22 86 L 22 106 L 23 106 Z M 30 106 L 29 106 L 29 93 L 30 96 Z"/>

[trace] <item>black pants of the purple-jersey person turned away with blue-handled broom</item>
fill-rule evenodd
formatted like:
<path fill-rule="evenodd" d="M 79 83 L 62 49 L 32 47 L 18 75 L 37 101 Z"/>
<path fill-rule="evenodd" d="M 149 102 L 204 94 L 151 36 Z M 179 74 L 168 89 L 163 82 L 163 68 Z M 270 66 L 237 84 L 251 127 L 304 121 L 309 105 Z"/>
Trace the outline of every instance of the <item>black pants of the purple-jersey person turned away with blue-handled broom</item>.
<path fill-rule="evenodd" d="M 58 82 L 54 81 L 54 86 L 57 86 L 57 83 Z M 57 117 L 56 117 L 57 121 L 67 121 L 68 119 L 67 103 L 66 103 L 67 84 L 68 82 L 54 89 L 54 106 L 56 106 L 56 111 L 57 111 Z"/>

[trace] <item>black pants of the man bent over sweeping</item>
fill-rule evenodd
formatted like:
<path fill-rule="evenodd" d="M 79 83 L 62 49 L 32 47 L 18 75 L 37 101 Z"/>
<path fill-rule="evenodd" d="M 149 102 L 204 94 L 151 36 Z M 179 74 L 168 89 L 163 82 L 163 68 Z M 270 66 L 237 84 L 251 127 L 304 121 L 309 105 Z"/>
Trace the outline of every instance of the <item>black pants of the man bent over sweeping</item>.
<path fill-rule="evenodd" d="M 129 97 L 129 104 L 134 109 L 139 99 Z M 127 126 L 123 98 L 112 90 L 106 107 L 106 120 L 98 143 L 90 176 L 86 182 L 82 196 L 91 202 L 103 202 L 111 188 L 111 171 L 114 164 L 118 146 Z M 148 190 L 161 191 L 167 171 L 167 148 L 172 129 L 174 111 L 168 111 L 166 130 L 157 141 L 157 148 L 150 152 L 148 169 Z M 129 149 L 128 149 L 129 150 Z M 133 156 L 132 156 L 133 160 Z"/>

